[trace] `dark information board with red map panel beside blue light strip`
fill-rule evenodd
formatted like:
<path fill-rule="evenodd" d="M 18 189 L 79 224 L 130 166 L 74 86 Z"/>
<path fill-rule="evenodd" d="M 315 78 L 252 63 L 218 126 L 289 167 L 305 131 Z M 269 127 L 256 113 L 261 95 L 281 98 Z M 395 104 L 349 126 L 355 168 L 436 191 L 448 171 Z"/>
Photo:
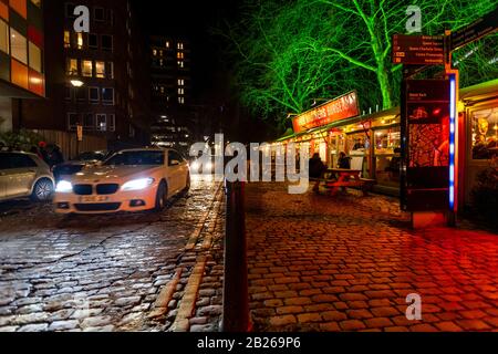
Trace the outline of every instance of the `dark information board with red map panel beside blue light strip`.
<path fill-rule="evenodd" d="M 407 211 L 448 209 L 449 196 L 449 81 L 408 80 L 403 113 Z"/>

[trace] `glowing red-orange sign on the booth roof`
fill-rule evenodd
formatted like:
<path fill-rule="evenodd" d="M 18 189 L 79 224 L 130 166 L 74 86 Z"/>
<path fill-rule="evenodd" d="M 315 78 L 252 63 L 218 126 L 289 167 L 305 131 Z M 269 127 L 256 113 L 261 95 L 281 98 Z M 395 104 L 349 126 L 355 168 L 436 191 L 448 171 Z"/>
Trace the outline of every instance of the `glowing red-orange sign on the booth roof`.
<path fill-rule="evenodd" d="M 301 133 L 359 115 L 357 94 L 353 91 L 297 116 L 292 124 L 294 133 Z"/>

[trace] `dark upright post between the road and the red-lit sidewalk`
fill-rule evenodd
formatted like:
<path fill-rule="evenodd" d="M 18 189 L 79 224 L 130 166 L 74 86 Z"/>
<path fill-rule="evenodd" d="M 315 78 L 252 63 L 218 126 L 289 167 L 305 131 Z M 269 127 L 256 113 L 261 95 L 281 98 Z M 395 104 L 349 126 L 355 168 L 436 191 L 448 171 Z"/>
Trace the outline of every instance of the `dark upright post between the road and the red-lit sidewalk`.
<path fill-rule="evenodd" d="M 224 281 L 224 332 L 248 332 L 249 294 L 247 277 L 247 243 L 243 207 L 245 183 L 225 183 L 226 236 Z"/>

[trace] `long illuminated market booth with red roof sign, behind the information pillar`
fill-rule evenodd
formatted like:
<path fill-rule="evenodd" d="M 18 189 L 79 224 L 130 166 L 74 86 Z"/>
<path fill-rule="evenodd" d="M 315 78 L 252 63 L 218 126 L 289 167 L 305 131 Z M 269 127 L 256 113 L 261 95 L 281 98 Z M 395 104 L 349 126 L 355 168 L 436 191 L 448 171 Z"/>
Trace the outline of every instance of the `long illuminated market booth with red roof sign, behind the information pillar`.
<path fill-rule="evenodd" d="M 471 204 L 477 176 L 490 166 L 498 150 L 498 80 L 459 91 L 458 102 L 458 200 Z M 330 168 L 339 154 L 351 157 L 352 168 L 363 178 L 375 179 L 374 191 L 400 196 L 401 111 L 395 107 L 361 115 L 357 96 L 351 92 L 293 118 L 292 135 L 276 144 L 309 143 L 310 156 L 320 154 Z"/>

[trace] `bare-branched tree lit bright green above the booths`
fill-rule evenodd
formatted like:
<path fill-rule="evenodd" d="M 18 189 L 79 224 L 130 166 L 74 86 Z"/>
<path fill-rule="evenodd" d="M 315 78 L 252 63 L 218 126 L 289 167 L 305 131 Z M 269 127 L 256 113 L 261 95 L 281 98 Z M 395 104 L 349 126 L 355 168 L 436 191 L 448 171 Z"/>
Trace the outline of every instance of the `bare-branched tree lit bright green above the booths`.
<path fill-rule="evenodd" d="M 314 97 L 357 90 L 363 108 L 397 103 L 401 65 L 392 64 L 392 35 L 406 33 L 406 9 L 422 10 L 422 33 L 443 34 L 496 8 L 496 0 L 248 0 L 243 20 L 229 27 L 236 84 L 246 105 L 263 118 L 310 108 Z M 496 44 L 496 35 L 491 45 Z M 460 67 L 495 74 L 495 50 L 467 55 Z M 467 56 L 465 56 L 467 55 Z M 463 75 L 471 81 L 474 74 Z M 491 76 L 492 77 L 492 76 Z"/>

